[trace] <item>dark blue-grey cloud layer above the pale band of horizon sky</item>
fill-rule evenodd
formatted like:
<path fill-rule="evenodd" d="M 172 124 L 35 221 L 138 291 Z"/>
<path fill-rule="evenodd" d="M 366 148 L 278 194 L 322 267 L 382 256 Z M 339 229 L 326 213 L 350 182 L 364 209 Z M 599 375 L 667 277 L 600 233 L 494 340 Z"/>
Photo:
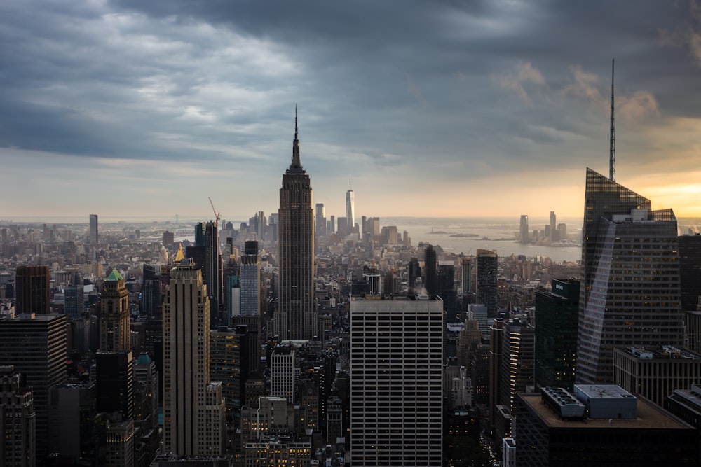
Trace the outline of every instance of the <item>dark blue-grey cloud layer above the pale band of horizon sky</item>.
<path fill-rule="evenodd" d="M 579 169 L 607 160 L 615 57 L 620 153 L 644 166 L 663 145 L 641 134 L 698 116 L 694 5 L 9 2 L 0 146 L 196 158 L 258 181 L 285 166 L 297 104 L 320 181 Z"/>

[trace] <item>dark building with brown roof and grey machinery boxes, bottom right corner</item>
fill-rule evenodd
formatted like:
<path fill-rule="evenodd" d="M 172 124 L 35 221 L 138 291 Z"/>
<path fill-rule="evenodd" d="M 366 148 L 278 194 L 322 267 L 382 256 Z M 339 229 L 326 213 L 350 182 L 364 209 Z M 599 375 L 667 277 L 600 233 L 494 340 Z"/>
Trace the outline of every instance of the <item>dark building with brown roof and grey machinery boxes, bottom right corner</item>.
<path fill-rule="evenodd" d="M 609 385 L 518 393 L 517 466 L 694 466 L 695 429 Z"/>

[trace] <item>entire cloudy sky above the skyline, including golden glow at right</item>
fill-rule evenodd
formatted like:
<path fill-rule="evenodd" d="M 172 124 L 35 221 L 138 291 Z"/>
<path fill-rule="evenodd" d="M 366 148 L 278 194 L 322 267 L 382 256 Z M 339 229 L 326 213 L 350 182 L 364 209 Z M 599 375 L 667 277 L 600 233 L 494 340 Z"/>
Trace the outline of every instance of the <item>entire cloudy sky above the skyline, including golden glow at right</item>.
<path fill-rule="evenodd" d="M 701 217 L 695 1 L 0 2 L 0 218 L 314 202 L 581 216 L 585 169 Z"/>

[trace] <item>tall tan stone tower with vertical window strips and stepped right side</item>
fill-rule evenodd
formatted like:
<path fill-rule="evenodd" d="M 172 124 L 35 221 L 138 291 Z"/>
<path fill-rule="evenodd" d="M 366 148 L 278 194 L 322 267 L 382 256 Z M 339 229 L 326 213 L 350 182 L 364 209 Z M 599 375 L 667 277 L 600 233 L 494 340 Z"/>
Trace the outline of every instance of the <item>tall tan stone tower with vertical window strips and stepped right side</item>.
<path fill-rule="evenodd" d="M 163 447 L 179 455 L 221 454 L 226 407 L 210 381 L 210 300 L 190 258 L 170 271 L 163 304 Z"/>

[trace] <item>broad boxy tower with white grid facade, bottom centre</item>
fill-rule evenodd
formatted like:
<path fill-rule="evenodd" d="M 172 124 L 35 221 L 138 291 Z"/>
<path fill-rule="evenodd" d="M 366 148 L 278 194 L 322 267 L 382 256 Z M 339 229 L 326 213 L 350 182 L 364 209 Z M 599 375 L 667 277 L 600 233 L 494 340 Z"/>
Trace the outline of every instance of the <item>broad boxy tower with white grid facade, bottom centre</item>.
<path fill-rule="evenodd" d="M 351 300 L 353 466 L 442 465 L 442 328 L 436 296 Z"/>

